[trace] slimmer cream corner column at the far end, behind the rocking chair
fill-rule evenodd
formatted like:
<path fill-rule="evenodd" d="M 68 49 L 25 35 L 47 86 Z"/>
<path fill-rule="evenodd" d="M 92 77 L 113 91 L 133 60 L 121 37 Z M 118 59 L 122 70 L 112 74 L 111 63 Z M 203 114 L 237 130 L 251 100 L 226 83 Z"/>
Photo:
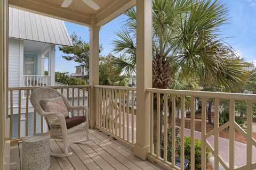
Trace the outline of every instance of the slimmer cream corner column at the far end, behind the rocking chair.
<path fill-rule="evenodd" d="M 90 128 L 95 126 L 95 114 L 97 108 L 97 97 L 95 85 L 99 84 L 99 31 L 100 27 L 92 23 L 90 31 L 90 63 L 89 63 L 89 84 L 92 86 L 90 94 Z"/>

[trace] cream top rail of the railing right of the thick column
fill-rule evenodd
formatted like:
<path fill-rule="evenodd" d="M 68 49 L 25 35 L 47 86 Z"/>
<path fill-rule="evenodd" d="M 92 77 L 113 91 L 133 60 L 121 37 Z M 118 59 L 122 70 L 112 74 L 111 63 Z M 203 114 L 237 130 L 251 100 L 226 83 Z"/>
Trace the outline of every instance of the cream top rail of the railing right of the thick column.
<path fill-rule="evenodd" d="M 227 92 L 170 90 L 170 89 L 154 89 L 154 88 L 147 88 L 146 91 L 161 93 L 161 94 L 170 94 L 170 95 L 173 94 L 173 95 L 184 95 L 184 96 L 195 96 L 195 97 L 256 101 L 256 95 L 253 95 L 253 94 L 235 94 L 235 93 L 227 93 Z"/>

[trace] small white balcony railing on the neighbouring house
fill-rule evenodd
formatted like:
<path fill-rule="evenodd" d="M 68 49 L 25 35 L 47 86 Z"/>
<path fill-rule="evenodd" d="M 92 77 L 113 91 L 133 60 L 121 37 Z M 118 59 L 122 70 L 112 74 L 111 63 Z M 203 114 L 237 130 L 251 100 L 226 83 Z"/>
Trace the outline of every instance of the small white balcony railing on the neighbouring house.
<path fill-rule="evenodd" d="M 51 85 L 50 75 L 23 75 L 24 87 L 41 87 L 41 86 L 50 86 L 50 85 Z"/>

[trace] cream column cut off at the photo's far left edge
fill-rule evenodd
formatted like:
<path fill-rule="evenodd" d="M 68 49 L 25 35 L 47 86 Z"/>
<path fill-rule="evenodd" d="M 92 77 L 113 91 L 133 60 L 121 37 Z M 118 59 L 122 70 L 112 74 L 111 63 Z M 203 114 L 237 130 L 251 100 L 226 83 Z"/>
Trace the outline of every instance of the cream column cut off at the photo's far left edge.
<path fill-rule="evenodd" d="M 8 1 L 0 2 L 0 169 L 9 168 L 4 161 L 8 155 L 7 137 L 5 136 L 5 122 L 7 118 L 7 88 L 8 88 Z M 7 124 L 6 124 L 7 125 Z M 4 152 L 4 150 L 6 152 Z"/>

